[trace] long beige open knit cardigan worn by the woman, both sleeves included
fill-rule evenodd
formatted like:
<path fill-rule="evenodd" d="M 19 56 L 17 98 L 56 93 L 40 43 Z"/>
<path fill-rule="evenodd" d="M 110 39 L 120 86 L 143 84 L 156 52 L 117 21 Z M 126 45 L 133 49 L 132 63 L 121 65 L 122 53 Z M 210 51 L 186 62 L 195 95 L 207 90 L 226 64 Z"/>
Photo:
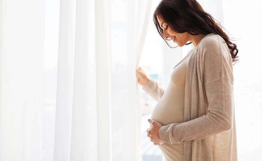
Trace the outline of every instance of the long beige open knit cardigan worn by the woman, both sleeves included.
<path fill-rule="evenodd" d="M 183 161 L 236 161 L 233 63 L 224 39 L 214 33 L 193 49 L 185 80 L 184 122 L 160 128 L 164 143 L 184 142 Z M 142 89 L 158 101 L 164 89 L 150 79 Z"/>

